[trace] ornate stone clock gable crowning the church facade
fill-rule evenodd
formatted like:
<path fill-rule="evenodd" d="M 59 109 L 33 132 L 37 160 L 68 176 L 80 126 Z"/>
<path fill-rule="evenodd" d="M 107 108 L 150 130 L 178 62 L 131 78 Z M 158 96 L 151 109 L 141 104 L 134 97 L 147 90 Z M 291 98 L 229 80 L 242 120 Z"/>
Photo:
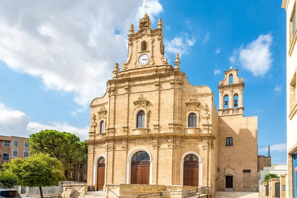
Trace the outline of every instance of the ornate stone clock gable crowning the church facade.
<path fill-rule="evenodd" d="M 128 35 L 128 57 L 123 63 L 123 77 L 139 75 L 151 71 L 167 71 L 172 68 L 164 57 L 162 20 L 159 18 L 157 28 L 151 29 L 151 22 L 147 13 L 139 20 L 139 30 L 135 32 L 131 24 Z M 153 69 L 154 67 L 154 69 Z M 157 67 L 157 68 L 156 68 Z M 151 68 L 151 69 L 150 69 Z"/>

